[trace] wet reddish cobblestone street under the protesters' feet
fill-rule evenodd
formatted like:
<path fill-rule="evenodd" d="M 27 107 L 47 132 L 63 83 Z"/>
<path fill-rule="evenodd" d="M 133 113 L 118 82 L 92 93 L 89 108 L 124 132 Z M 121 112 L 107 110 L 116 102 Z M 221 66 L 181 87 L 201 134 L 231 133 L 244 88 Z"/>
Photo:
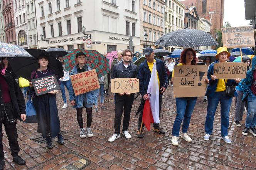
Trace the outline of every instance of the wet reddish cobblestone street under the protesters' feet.
<path fill-rule="evenodd" d="M 110 88 L 110 87 L 109 87 Z M 66 96 L 67 92 L 66 92 Z M 113 94 L 105 100 L 113 99 Z M 256 168 L 256 137 L 248 134 L 242 135 L 245 124 L 245 114 L 241 122 L 242 127 L 236 127 L 234 120 L 234 99 L 229 117 L 229 137 L 232 144 L 226 144 L 220 136 L 220 108 L 218 107 L 214 119 L 214 130 L 209 141 L 204 141 L 204 121 L 207 103 L 203 97 L 197 99 L 188 134 L 192 143 L 179 139 L 179 147 L 171 144 L 172 125 L 176 116 L 175 99 L 172 97 L 172 87 L 169 86 L 164 94 L 160 127 L 165 130 L 165 135 L 159 135 L 152 130 L 145 131 L 145 137 L 138 139 L 137 120 L 135 112 L 140 104 L 140 97 L 135 99 L 131 111 L 129 132 L 131 139 L 120 139 L 108 142 L 114 132 L 114 102 L 105 102 L 106 111 L 99 109 L 93 112 L 91 129 L 93 137 L 81 139 L 79 126 L 76 120 L 76 110 L 70 103 L 66 109 L 61 109 L 63 101 L 61 92 L 57 94 L 61 130 L 66 140 L 64 145 L 59 145 L 54 139 L 53 149 L 46 149 L 44 140 L 36 142 L 37 124 L 18 122 L 18 141 L 20 156 L 25 159 L 26 165 L 18 166 L 13 163 L 8 140 L 3 130 L 3 145 L 5 152 L 5 169 L 254 169 Z M 83 110 L 84 126 L 86 127 L 86 111 Z M 121 124 L 122 126 L 122 124 Z M 3 128 L 4 129 L 4 128 Z M 43 143 L 43 144 L 41 144 Z"/>

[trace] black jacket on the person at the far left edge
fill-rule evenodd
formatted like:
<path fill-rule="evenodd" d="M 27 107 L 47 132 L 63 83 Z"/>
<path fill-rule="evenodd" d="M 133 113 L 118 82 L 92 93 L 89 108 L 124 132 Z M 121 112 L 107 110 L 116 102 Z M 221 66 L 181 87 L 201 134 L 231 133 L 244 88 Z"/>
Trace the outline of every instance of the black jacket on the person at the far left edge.
<path fill-rule="evenodd" d="M 0 76 L 3 76 L 0 74 Z M 3 76 L 5 81 L 9 86 L 9 93 L 13 105 L 13 114 L 16 119 L 21 120 L 20 114 L 26 114 L 26 106 L 24 96 L 20 90 L 20 87 L 16 81 L 11 76 Z M 1 84 L 0 84 L 1 86 Z M 4 119 L 4 110 L 3 110 L 3 94 L 2 88 L 0 88 L 0 121 Z"/>

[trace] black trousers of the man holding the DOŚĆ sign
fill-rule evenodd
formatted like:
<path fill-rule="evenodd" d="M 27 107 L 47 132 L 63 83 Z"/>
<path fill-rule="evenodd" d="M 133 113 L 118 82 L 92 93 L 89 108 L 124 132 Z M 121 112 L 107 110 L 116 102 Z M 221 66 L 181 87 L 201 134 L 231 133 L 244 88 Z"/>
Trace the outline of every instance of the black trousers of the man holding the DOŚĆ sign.
<path fill-rule="evenodd" d="M 115 94 L 115 134 L 120 134 L 121 117 L 123 113 L 124 117 L 122 131 L 128 130 L 133 100 L 134 94 L 131 94 L 130 96 L 127 96 L 126 94 L 123 96 Z"/>

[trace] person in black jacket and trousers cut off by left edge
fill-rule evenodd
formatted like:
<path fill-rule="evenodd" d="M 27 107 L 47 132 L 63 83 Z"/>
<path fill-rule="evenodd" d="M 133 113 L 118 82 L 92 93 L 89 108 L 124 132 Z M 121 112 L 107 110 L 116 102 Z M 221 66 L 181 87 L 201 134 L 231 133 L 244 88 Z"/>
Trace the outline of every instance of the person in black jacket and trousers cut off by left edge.
<path fill-rule="evenodd" d="M 18 144 L 17 119 L 25 121 L 25 100 L 20 87 L 11 76 L 1 74 L 0 68 L 0 170 L 3 170 L 5 162 L 3 160 L 3 132 L 2 124 L 8 137 L 13 162 L 24 165 L 26 162 L 18 153 L 20 147 Z"/>

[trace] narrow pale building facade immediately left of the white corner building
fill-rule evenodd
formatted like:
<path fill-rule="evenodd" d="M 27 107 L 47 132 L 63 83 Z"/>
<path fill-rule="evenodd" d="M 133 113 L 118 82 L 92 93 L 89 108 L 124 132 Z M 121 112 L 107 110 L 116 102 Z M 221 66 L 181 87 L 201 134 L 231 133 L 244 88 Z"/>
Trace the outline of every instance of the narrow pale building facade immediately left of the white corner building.
<path fill-rule="evenodd" d="M 25 0 L 27 13 L 27 41 L 30 49 L 37 49 L 37 20 L 34 0 Z"/>

